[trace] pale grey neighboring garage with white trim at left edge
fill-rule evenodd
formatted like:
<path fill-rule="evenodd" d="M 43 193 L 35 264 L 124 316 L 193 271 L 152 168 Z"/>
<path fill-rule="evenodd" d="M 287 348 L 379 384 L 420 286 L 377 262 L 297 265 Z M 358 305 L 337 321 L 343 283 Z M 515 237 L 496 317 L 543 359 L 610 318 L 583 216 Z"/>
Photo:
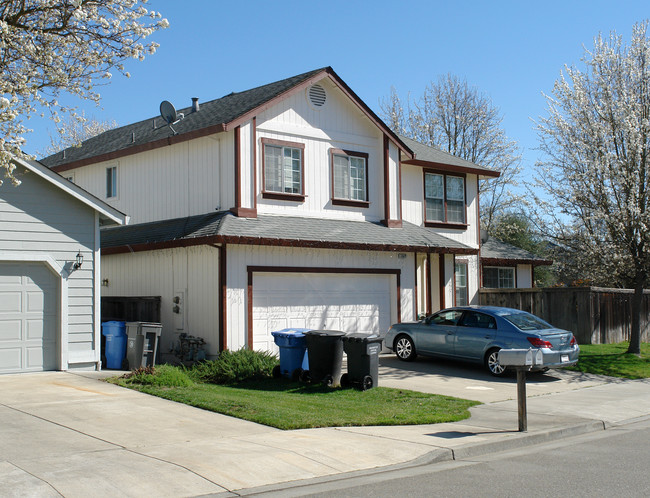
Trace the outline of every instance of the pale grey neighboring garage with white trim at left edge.
<path fill-rule="evenodd" d="M 100 226 L 114 207 L 35 161 L 0 186 L 0 373 L 101 361 Z"/>

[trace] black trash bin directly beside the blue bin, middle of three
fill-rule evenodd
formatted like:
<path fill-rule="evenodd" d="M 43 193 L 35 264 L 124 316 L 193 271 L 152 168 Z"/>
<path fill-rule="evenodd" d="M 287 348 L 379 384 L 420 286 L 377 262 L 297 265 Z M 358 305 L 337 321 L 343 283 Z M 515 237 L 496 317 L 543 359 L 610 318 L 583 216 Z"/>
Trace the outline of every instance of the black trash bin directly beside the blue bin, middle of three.
<path fill-rule="evenodd" d="M 338 386 L 341 381 L 343 341 L 345 332 L 340 330 L 309 330 L 305 332 L 309 370 L 303 372 L 302 380 L 322 382 Z"/>

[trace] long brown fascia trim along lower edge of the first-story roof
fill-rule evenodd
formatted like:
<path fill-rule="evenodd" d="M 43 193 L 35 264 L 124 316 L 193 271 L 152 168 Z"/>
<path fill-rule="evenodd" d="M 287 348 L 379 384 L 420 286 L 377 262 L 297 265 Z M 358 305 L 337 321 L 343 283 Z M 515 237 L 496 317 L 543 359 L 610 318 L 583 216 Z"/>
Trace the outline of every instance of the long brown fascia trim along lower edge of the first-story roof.
<path fill-rule="evenodd" d="M 303 247 L 315 249 L 347 249 L 351 251 L 378 252 L 425 252 L 445 254 L 476 254 L 478 249 L 430 247 L 412 245 L 365 244 L 352 242 L 328 242 L 322 240 L 294 240 L 263 237 L 242 237 L 239 235 L 210 235 L 188 239 L 176 239 L 165 242 L 146 242 L 143 244 L 127 244 L 123 246 L 106 247 L 101 250 L 102 256 L 123 254 L 127 252 L 156 251 L 173 247 L 190 247 L 203 244 L 241 244 L 253 246 Z"/>

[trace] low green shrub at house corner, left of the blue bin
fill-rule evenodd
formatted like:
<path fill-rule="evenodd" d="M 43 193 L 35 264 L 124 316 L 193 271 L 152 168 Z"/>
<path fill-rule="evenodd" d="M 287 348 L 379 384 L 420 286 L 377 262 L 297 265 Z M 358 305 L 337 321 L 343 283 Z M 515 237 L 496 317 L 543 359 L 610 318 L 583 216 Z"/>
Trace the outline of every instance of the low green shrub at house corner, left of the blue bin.
<path fill-rule="evenodd" d="M 222 351 L 219 358 L 194 365 L 192 377 L 200 382 L 233 384 L 243 380 L 271 377 L 278 359 L 265 351 Z"/>

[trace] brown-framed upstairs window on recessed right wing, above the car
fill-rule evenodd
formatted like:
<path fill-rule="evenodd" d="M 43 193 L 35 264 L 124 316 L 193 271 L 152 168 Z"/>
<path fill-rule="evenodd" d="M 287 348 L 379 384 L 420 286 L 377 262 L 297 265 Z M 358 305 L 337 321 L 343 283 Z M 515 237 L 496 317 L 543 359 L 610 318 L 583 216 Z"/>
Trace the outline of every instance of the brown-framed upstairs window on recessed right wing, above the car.
<path fill-rule="evenodd" d="M 466 223 L 465 177 L 424 173 L 425 221 Z"/>

